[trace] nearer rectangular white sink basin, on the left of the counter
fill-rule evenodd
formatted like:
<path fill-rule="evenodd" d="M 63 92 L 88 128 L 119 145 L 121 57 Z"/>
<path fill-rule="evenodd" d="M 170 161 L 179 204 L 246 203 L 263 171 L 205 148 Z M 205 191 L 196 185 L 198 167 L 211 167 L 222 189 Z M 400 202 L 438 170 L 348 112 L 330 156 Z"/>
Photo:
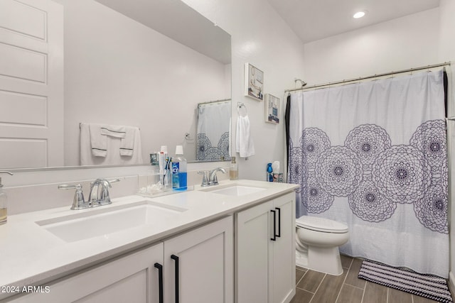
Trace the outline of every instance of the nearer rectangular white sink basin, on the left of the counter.
<path fill-rule="evenodd" d="M 118 207 L 84 211 L 55 219 L 36 221 L 45 230 L 66 242 L 107 235 L 141 225 L 165 224 L 186 209 L 143 201 Z"/>

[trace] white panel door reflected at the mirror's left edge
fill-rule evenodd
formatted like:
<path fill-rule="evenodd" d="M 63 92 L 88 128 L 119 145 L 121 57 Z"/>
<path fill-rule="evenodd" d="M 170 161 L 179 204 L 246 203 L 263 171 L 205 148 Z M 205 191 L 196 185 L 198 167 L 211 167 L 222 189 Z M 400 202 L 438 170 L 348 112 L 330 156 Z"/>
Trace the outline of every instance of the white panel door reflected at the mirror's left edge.
<path fill-rule="evenodd" d="M 0 0 L 0 167 L 63 160 L 63 6 Z"/>

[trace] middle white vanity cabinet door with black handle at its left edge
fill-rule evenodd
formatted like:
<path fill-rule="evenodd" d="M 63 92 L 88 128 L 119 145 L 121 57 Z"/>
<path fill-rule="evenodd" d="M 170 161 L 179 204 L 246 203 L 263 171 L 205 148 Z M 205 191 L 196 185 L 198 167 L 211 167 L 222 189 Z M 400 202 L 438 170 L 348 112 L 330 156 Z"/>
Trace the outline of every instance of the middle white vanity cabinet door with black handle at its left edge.
<path fill-rule="evenodd" d="M 229 216 L 164 241 L 165 302 L 233 302 L 232 231 Z"/>

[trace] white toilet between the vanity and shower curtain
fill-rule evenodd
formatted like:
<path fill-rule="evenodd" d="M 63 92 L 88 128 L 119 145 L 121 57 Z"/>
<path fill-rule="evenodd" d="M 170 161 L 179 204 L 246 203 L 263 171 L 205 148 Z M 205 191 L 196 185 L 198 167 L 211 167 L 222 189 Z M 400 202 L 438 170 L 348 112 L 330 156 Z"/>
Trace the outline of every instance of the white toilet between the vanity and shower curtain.
<path fill-rule="evenodd" d="M 296 265 L 341 275 L 343 268 L 338 246 L 348 240 L 346 224 L 316 216 L 301 216 L 296 219 Z"/>

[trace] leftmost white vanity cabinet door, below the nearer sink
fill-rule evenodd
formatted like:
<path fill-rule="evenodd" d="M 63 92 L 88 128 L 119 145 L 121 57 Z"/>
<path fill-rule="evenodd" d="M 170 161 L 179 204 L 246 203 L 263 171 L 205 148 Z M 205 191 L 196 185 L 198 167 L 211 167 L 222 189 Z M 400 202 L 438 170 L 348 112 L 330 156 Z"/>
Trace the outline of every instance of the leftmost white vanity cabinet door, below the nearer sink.
<path fill-rule="evenodd" d="M 162 261 L 163 243 L 159 243 L 48 285 L 48 293 L 12 302 L 159 303 L 159 270 L 154 265 Z"/>

